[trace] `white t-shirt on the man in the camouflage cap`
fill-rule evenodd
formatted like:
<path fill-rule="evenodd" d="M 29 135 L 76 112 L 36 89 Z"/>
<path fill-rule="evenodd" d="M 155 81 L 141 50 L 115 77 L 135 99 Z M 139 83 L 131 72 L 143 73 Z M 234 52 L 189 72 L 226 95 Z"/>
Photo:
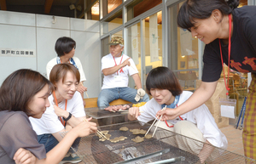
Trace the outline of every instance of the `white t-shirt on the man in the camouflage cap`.
<path fill-rule="evenodd" d="M 122 56 L 114 58 L 115 62 L 117 65 L 120 65 L 120 62 L 123 63 L 125 59 L 130 58 L 129 56 L 123 54 L 123 59 Z M 122 59 L 122 61 L 121 61 Z M 103 79 L 103 85 L 102 89 L 104 88 L 126 88 L 128 87 L 128 82 L 129 82 L 129 76 L 132 76 L 133 74 L 138 73 L 137 67 L 134 64 L 133 59 L 129 59 L 131 66 L 126 65 L 123 67 L 124 72 L 119 72 L 117 75 L 117 72 L 113 73 L 112 75 L 104 76 Z M 102 58 L 102 70 L 105 68 L 110 68 L 115 65 L 115 62 L 113 60 L 112 54 L 107 54 Z M 120 70 L 119 70 L 120 71 Z"/>

